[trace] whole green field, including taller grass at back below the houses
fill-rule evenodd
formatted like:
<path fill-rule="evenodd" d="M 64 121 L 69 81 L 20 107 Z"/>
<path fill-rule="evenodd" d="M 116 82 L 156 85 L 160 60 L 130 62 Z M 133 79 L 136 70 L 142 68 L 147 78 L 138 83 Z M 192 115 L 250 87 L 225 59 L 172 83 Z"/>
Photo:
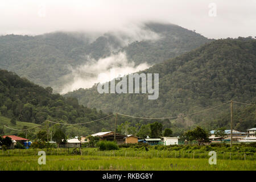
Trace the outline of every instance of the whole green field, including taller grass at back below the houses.
<path fill-rule="evenodd" d="M 160 146 L 159 146 L 160 147 Z M 158 147 L 158 148 L 159 148 Z M 177 146 L 174 146 L 174 148 Z M 185 146 L 184 146 L 185 147 Z M 199 146 L 187 146 L 195 148 Z M 205 146 L 206 147 L 206 146 Z M 213 147 L 214 148 L 214 147 Z M 216 149 L 216 148 L 214 148 Z M 228 149 L 228 147 L 227 147 Z M 0 151 L 0 170 L 255 170 L 255 154 L 217 152 L 217 164 L 208 163 L 208 152 L 198 150 L 120 150 L 100 151 L 96 148 L 82 148 L 74 154 L 68 148 L 45 148 L 46 165 L 38 164 L 38 151 Z M 234 151 L 234 152 L 233 152 Z M 230 159 L 231 156 L 231 159 Z M 176 165 L 177 164 L 177 165 Z"/>

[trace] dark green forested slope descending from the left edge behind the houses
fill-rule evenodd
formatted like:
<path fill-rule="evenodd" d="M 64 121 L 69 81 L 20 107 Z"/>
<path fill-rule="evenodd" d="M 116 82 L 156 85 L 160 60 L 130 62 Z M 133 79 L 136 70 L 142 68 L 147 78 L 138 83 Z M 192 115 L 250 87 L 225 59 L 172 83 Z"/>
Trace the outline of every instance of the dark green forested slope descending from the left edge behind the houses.
<path fill-rule="evenodd" d="M 0 123 L 9 127 L 22 129 L 30 128 L 26 123 L 41 124 L 46 119 L 60 123 L 82 123 L 106 117 L 107 114 L 96 109 L 78 104 L 75 98 L 65 98 L 60 94 L 52 94 L 52 88 L 43 88 L 20 78 L 15 73 L 0 69 Z M 7 123 L 7 119 L 11 121 Z M 88 135 L 106 129 L 114 128 L 109 125 L 113 118 L 107 118 L 95 123 L 80 126 L 62 126 L 65 133 L 71 135 Z M 14 120 L 14 122 L 12 121 Z M 26 122 L 21 125 L 21 122 Z M 3 126 L 1 125 L 1 130 Z M 35 131 L 35 130 L 34 130 Z M 5 128 L 5 133 L 18 134 Z M 31 131 L 33 132 L 33 131 Z"/>

